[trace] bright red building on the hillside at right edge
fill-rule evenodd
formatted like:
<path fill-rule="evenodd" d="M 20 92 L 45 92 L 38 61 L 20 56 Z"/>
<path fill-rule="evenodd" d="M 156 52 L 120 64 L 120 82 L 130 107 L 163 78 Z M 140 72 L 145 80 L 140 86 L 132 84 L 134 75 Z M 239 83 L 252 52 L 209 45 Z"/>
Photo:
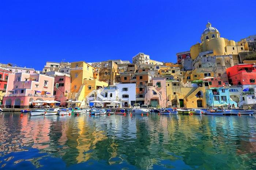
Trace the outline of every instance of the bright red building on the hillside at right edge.
<path fill-rule="evenodd" d="M 226 69 L 231 85 L 255 85 L 256 69 L 254 64 L 238 64 Z"/>

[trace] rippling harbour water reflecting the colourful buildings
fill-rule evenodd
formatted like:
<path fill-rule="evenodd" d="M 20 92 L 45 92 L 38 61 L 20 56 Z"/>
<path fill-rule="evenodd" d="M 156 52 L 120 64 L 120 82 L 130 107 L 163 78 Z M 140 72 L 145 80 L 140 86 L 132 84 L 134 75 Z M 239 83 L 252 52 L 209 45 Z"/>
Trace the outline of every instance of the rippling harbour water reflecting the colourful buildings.
<path fill-rule="evenodd" d="M 0 113 L 0 169 L 255 170 L 256 119 Z"/>

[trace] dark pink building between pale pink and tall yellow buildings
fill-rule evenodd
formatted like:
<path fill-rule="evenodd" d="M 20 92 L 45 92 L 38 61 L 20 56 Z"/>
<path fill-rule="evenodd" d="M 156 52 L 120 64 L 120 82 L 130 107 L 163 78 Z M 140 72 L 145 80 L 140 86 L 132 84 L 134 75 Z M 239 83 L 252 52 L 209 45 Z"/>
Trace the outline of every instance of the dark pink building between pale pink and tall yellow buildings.
<path fill-rule="evenodd" d="M 54 90 L 53 95 L 55 101 L 59 101 L 60 106 L 65 106 L 68 94 L 70 93 L 71 78 L 69 75 L 55 76 L 54 77 Z M 57 105 L 57 103 L 56 103 Z"/>

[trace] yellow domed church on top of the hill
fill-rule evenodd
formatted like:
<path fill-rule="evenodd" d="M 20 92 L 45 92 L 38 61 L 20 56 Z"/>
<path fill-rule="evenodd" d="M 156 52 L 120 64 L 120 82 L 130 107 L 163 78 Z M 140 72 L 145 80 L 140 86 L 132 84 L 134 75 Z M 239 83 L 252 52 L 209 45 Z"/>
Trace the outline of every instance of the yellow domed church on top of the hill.
<path fill-rule="evenodd" d="M 220 37 L 219 31 L 211 26 L 211 23 L 206 24 L 206 29 L 201 35 L 201 43 L 197 43 L 190 48 L 191 58 L 195 59 L 199 53 L 213 51 L 209 56 L 221 56 L 234 54 L 248 50 L 248 45 L 236 44 L 233 40 Z"/>

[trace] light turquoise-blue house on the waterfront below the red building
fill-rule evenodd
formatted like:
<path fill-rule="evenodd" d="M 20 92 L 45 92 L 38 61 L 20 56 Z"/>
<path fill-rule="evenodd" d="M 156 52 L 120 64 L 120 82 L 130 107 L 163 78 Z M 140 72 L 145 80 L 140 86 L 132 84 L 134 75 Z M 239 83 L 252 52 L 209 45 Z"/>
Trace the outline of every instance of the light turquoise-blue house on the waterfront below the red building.
<path fill-rule="evenodd" d="M 210 88 L 206 90 L 207 107 L 235 105 L 237 103 L 230 98 L 229 88 Z"/>

